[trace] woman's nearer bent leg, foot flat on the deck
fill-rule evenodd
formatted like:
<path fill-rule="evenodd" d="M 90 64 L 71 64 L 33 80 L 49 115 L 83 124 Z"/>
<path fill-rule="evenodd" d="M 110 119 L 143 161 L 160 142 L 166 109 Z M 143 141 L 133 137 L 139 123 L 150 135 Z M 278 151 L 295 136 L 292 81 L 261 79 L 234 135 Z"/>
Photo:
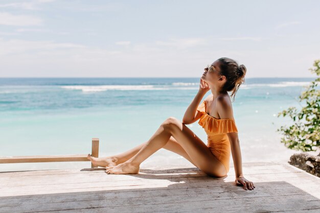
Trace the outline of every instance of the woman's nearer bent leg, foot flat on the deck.
<path fill-rule="evenodd" d="M 108 167 L 108 174 L 137 174 L 140 164 L 157 150 L 163 148 L 173 136 L 186 151 L 197 168 L 210 176 L 226 175 L 223 164 L 211 153 L 209 148 L 186 125 L 174 117 L 169 117 L 152 135 L 142 149 L 132 158 L 119 165 Z"/>

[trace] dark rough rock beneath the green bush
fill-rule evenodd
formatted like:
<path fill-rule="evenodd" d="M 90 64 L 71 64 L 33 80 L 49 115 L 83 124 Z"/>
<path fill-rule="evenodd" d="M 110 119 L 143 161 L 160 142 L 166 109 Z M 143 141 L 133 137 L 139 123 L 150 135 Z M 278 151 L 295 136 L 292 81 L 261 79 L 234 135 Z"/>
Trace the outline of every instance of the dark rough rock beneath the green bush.
<path fill-rule="evenodd" d="M 296 153 L 288 161 L 294 167 L 305 170 L 306 172 L 320 177 L 320 156 L 309 155 L 308 153 Z"/>

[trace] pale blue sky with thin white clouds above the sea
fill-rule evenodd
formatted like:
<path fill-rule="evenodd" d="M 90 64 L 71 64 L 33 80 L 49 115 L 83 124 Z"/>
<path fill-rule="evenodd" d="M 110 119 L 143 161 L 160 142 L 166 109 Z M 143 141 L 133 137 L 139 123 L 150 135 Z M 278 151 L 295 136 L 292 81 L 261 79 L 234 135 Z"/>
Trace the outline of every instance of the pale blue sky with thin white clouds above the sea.
<path fill-rule="evenodd" d="M 0 77 L 314 77 L 320 1 L 0 0 Z"/>

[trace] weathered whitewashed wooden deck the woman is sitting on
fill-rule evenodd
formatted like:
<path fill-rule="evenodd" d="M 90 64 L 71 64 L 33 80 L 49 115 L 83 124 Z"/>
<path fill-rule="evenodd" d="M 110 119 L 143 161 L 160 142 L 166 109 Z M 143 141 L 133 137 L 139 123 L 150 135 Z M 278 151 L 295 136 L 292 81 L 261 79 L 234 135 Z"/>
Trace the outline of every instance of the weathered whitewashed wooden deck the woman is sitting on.
<path fill-rule="evenodd" d="M 0 173 L 0 212 L 320 212 L 320 178 L 290 164 L 243 163 L 256 188 L 190 165 L 141 167 L 140 174 L 103 168 Z"/>

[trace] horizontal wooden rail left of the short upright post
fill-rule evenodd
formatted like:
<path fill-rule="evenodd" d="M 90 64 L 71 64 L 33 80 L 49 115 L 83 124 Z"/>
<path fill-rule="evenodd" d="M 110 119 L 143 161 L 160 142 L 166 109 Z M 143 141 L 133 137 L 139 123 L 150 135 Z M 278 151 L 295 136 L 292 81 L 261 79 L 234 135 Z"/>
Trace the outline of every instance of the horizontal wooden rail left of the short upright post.
<path fill-rule="evenodd" d="M 67 162 L 90 161 L 87 155 L 33 155 L 1 157 L 0 163 L 34 163 L 34 162 Z"/>

